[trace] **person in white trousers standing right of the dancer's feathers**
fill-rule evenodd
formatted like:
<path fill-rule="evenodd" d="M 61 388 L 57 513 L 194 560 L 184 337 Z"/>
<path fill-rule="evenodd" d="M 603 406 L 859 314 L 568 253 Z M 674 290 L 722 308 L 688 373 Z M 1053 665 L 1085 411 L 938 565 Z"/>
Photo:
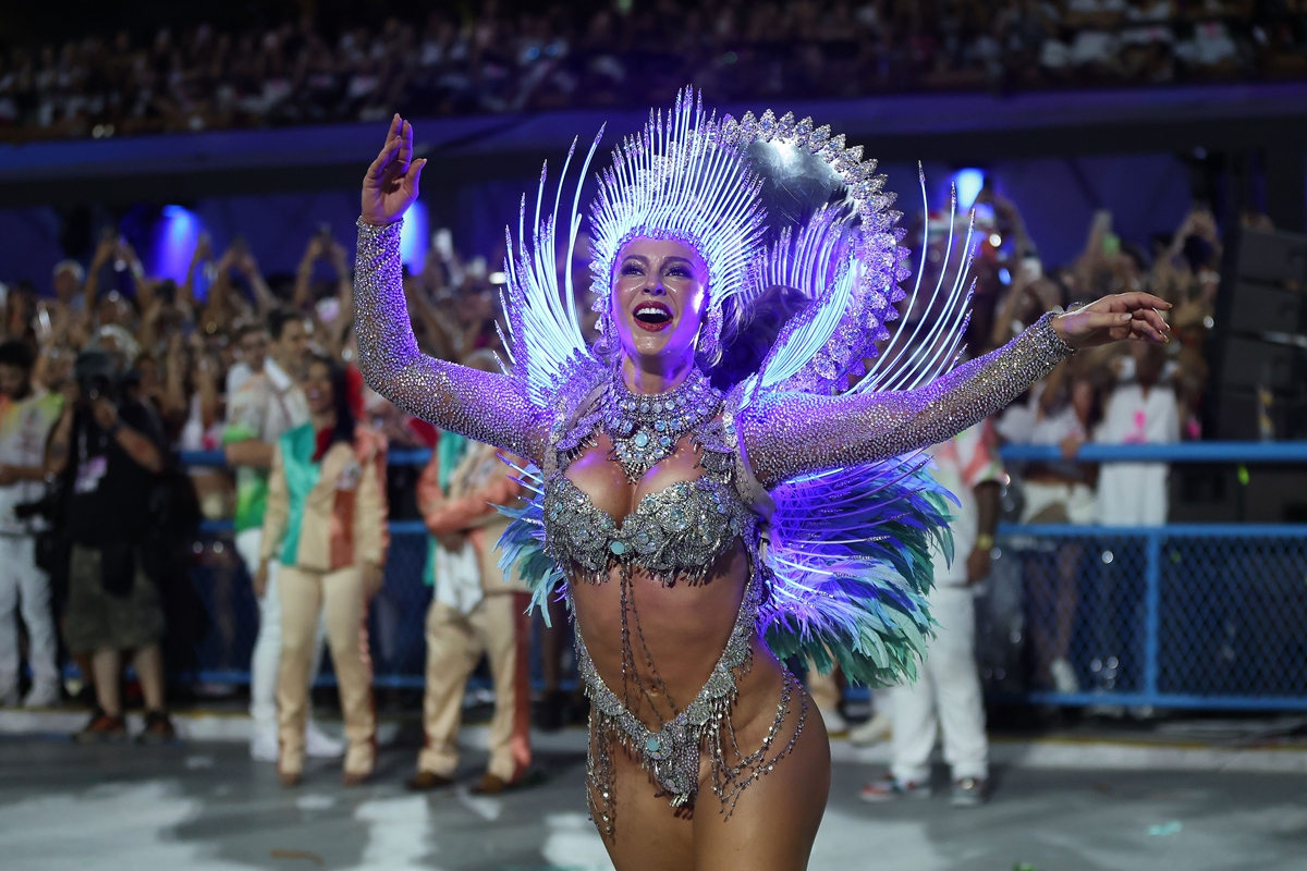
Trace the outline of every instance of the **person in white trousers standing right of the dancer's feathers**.
<path fill-rule="evenodd" d="M 940 624 L 915 684 L 890 689 L 894 718 L 890 773 L 863 787 L 863 799 L 884 802 L 931 794 L 931 752 L 944 733 L 944 760 L 953 773 L 954 804 L 979 804 L 989 778 L 989 740 L 975 659 L 975 598 L 971 585 L 989 575 L 999 524 L 1002 465 L 988 420 L 935 445 L 935 479 L 957 496 L 950 565 L 935 556 L 931 614 Z"/>

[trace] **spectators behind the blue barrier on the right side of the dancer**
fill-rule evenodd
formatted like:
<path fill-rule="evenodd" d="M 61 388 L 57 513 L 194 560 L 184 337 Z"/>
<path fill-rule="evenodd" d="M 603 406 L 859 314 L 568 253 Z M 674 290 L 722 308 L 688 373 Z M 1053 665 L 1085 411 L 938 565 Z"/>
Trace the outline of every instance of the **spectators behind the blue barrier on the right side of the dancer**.
<path fill-rule="evenodd" d="M 1121 343 L 1080 353 L 993 418 L 1001 440 L 1052 447 L 1060 454 L 1055 461 L 1009 467 L 1009 518 L 1131 528 L 1166 524 L 1171 511 L 1167 464 L 1095 465 L 1077 461 L 1077 453 L 1091 441 L 1168 444 L 1202 437 L 1208 340 L 1222 256 L 1213 214 L 1201 205 L 1193 208 L 1175 232 L 1154 235 L 1145 251 L 1123 242 L 1112 231 L 1111 213 L 1099 212 L 1084 252 L 1065 266 L 1044 269 L 1016 206 L 988 189 L 980 200 L 982 213 L 992 209 L 993 214 L 984 231 L 1010 236 L 1013 247 L 1006 260 L 988 251 L 980 259 L 978 298 L 992 299 L 993 306 L 976 311 L 975 346 L 999 346 L 1046 311 L 1110 293 L 1149 291 L 1172 304 L 1167 320 L 1175 340 L 1170 343 Z M 1243 222 L 1256 229 L 1269 223 L 1256 214 Z M 1128 585 L 1107 556 L 1095 572 L 1086 562 L 1090 550 L 1074 538 L 1017 542 L 1013 548 L 1025 590 L 1026 686 L 1063 693 L 1119 688 L 1129 658 L 1123 627 L 1133 619 L 1121 598 Z M 1086 584 L 1093 589 L 1089 602 L 1084 602 Z M 1078 623 L 1090 631 L 1077 636 Z M 1091 713 L 1120 712 L 1097 706 Z"/>

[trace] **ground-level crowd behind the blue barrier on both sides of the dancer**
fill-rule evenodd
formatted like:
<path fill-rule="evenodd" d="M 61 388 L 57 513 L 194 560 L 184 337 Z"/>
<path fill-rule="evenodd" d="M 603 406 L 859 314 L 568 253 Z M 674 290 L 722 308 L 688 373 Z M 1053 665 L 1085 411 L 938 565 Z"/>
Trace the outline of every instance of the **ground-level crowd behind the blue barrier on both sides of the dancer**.
<path fill-rule="evenodd" d="M 1055 268 L 1039 260 L 1013 202 L 989 187 L 982 191 L 976 202 L 976 226 L 984 242 L 975 262 L 978 283 L 967 341 L 975 351 L 1006 342 L 1044 311 L 1090 302 L 1108 293 L 1150 290 L 1175 306 L 1168 317 L 1179 341 L 1144 355 L 1132 355 L 1121 347 L 1080 354 L 1018 400 L 997 422 L 997 431 L 1012 441 L 1057 444 L 1065 454 L 1064 462 L 1026 470 L 1026 518 L 1091 522 L 1095 487 L 1098 501 L 1103 503 L 1107 482 L 1099 481 L 1095 470 L 1074 461 L 1080 444 L 1201 435 L 1202 387 L 1208 377 L 1204 343 L 1213 325 L 1219 281 L 1217 223 L 1210 212 L 1196 208 L 1174 234 L 1155 236 L 1145 251 L 1123 242 L 1112 231 L 1111 215 L 1099 213 L 1089 229 L 1085 251 L 1073 262 Z M 932 239 L 944 236 L 935 234 Z M 908 239 L 914 238 L 916 234 L 910 231 Z M 494 262 L 503 252 L 488 252 L 489 261 L 484 256 L 461 257 L 447 230 L 438 230 L 431 242 L 425 268 L 405 277 L 420 345 L 434 356 L 452 360 L 468 359 L 477 351 L 484 355 L 485 350 L 502 350 L 495 326 L 501 320 L 499 295 L 494 283 L 502 281 L 502 274 L 491 272 L 488 262 Z M 584 239 L 578 251 L 583 247 Z M 942 259 L 932 253 L 927 260 L 929 272 L 931 264 Z M 578 287 L 588 287 L 586 264 L 578 259 L 572 266 Z M 433 448 L 438 441 L 439 434 L 433 427 L 362 388 L 353 368 L 358 351 L 350 262 L 341 240 L 333 239 L 325 229 L 307 240 L 293 276 L 264 276 L 248 245 L 239 239 L 226 251 L 216 251 L 201 235 L 182 282 L 146 274 L 131 245 L 110 230 L 88 265 L 74 260 L 58 264 L 52 286 L 50 296 L 38 295 L 30 282 L 21 279 L 0 291 L 0 341 L 16 341 L 33 354 L 33 390 L 63 394 L 72 401 L 78 396 L 74 362 L 88 350 L 102 351 L 114 358 L 120 372 L 128 373 L 122 381 L 123 400 L 149 410 L 163 454 L 221 449 L 225 431 L 230 432 L 230 400 L 251 373 L 264 371 L 265 359 L 278 360 L 282 370 L 293 368 L 295 359 L 307 363 L 310 355 L 301 353 L 303 349 L 290 354 L 281 347 L 288 342 L 288 324 L 297 325 L 295 336 L 303 336 L 308 350 L 319 359 L 327 358 L 353 370 L 352 389 L 362 390 L 358 418 L 384 436 L 391 451 Z M 588 312 L 588 308 L 584 303 L 579 306 L 580 311 Z M 912 316 L 908 313 L 907 320 Z M 592 334 L 593 316 L 587 317 L 583 328 Z M 3 407 L 0 405 L 0 411 Z M 1154 414 L 1154 409 L 1161 410 Z M 1162 423 L 1150 430 L 1140 424 L 1141 414 L 1157 417 Z M 114 422 L 103 427 L 107 432 L 118 432 Z M 420 471 L 403 465 L 391 467 L 387 503 L 392 520 L 422 517 Z M 0 466 L 0 482 L 5 481 L 4 475 L 5 467 Z M 238 478 L 230 470 L 191 465 L 178 477 L 193 487 L 197 515 L 208 520 L 239 515 Z M 1127 478 L 1141 479 L 1138 475 Z M 1125 481 L 1120 487 L 1134 484 Z M 1162 492 L 1162 505 L 1153 505 L 1149 517 L 1120 522 L 1165 522 L 1165 490 Z M 1121 501 L 1117 498 L 1117 504 Z M 1132 500 L 1127 498 L 1124 503 Z M 247 582 L 242 580 L 246 569 L 234 551 L 231 547 L 223 550 L 221 542 L 195 551 L 196 559 L 216 578 L 216 599 L 234 602 L 234 590 Z M 1057 593 L 1059 582 L 1074 584 L 1073 568 L 1067 569 L 1069 575 L 1061 581 L 1056 567 L 1047 569 L 1048 577 L 1040 589 L 1051 594 L 1046 602 L 1050 612 L 1055 602 L 1073 602 L 1065 590 Z M 55 599 L 59 607 L 58 590 Z M 404 606 L 387 603 L 383 594 L 374 601 L 374 609 L 399 612 Z M 213 632 L 208 632 L 209 626 L 203 628 L 217 637 L 216 648 L 210 644 L 207 654 L 209 666 L 244 670 L 247 662 L 239 653 L 238 637 L 243 629 L 235 624 L 239 618 L 230 607 L 212 603 L 207 611 L 203 619 L 210 623 Z M 379 645 L 382 659 L 396 645 L 408 644 L 389 637 L 393 632 L 387 627 L 397 626 L 396 620 L 386 614 L 379 616 L 382 632 L 374 637 L 374 644 Z M 1065 623 L 1061 619 L 1059 624 Z M 188 656 L 187 652 L 193 656 L 195 628 L 192 624 L 180 632 L 180 641 L 171 646 L 165 640 L 163 649 L 174 659 L 174 669 L 178 657 Z M 1050 680 L 1057 676 L 1052 663 L 1065 659 L 1068 632 L 1067 626 L 1052 627 L 1046 632 L 1048 637 L 1034 639 L 1042 646 L 1039 658 L 1044 674 L 1052 675 Z M 557 675 L 553 683 L 557 684 Z M 14 699 L 16 689 L 0 687 L 9 693 L 9 700 Z"/>

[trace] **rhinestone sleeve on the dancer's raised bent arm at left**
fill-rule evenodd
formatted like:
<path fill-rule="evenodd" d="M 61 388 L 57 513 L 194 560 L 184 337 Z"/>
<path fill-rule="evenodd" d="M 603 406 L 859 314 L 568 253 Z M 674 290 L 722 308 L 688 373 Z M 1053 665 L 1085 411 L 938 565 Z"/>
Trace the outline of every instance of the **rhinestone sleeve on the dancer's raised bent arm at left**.
<path fill-rule="evenodd" d="M 400 222 L 374 227 L 359 219 L 354 307 L 358 364 L 374 390 L 442 430 L 540 462 L 548 414 L 520 381 L 418 350 L 404 302 Z"/>

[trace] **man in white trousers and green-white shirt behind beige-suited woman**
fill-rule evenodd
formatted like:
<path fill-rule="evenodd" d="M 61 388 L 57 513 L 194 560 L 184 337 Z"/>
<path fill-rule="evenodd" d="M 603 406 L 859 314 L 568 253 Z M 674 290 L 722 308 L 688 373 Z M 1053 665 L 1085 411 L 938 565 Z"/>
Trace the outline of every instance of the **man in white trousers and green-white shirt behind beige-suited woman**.
<path fill-rule="evenodd" d="M 297 383 L 308 354 L 308 333 L 298 315 L 273 311 L 268 315 L 267 329 L 247 326 L 237 341 L 242 359 L 254 373 L 227 398 L 222 440 L 227 462 L 237 469 L 237 551 L 254 577 L 263 545 L 273 448 L 284 432 L 308 422 L 308 404 Z M 259 637 L 250 658 L 250 717 L 254 720 L 250 755 L 268 763 L 277 761 L 277 670 L 281 665 L 276 564 L 276 560 L 269 564 L 268 588 L 259 599 Z M 319 623 L 310 675 L 316 675 L 322 665 L 324 637 L 325 628 Z M 310 756 L 335 759 L 345 747 L 324 735 L 310 720 L 305 751 Z"/>

